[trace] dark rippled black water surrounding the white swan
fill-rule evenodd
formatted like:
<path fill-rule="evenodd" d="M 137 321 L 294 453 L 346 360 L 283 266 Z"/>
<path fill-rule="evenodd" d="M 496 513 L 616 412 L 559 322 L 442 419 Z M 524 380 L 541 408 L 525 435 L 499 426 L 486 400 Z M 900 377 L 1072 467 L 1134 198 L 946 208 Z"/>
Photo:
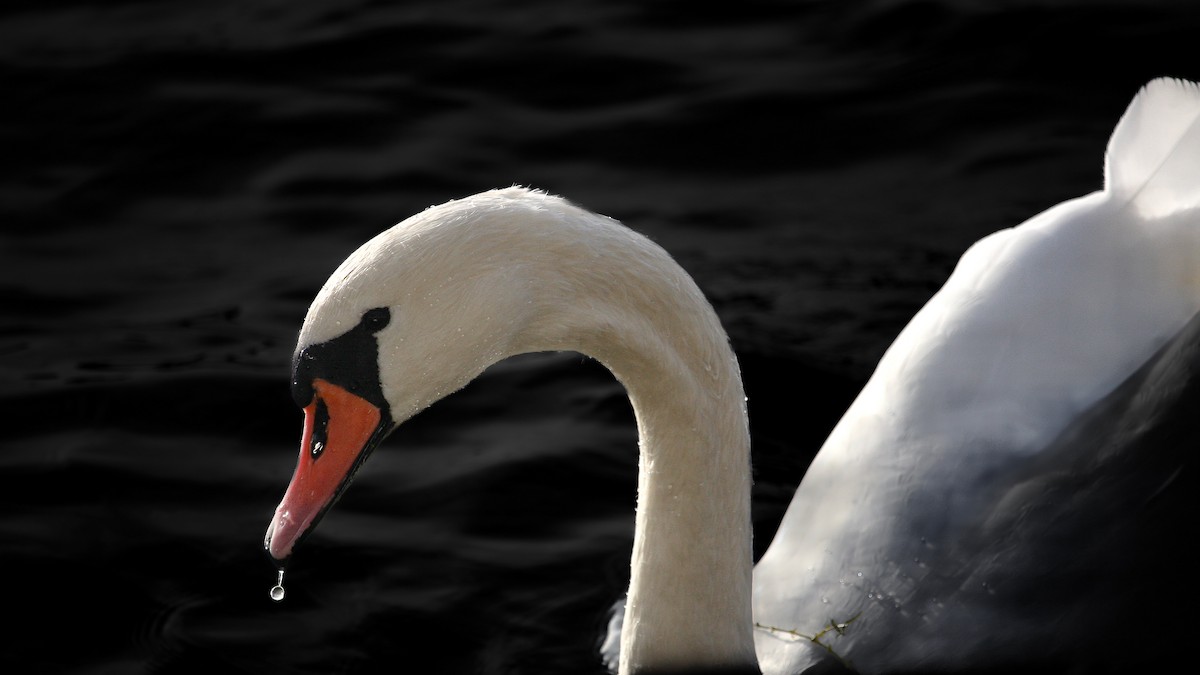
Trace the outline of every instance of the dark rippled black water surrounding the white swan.
<path fill-rule="evenodd" d="M 0 10 L 0 665 L 583 673 L 635 435 L 574 354 L 377 452 L 274 604 L 307 303 L 376 232 L 526 184 L 672 251 L 743 360 L 758 549 L 985 233 L 1102 184 L 1186 4 L 133 2 Z"/>

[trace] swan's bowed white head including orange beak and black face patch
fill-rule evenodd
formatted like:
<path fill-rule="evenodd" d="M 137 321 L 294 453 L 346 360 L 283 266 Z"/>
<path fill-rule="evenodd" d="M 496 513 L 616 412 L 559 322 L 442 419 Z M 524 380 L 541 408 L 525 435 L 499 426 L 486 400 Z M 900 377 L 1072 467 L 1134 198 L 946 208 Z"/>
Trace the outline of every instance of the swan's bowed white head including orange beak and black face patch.
<path fill-rule="evenodd" d="M 277 565 L 395 426 L 496 362 L 560 347 L 572 331 L 565 317 L 587 306 L 560 274 L 580 267 L 569 264 L 580 255 L 570 231 L 583 214 L 541 192 L 485 192 L 396 225 L 334 271 L 293 357 L 305 426 L 266 532 Z M 559 301 L 565 312 L 548 306 L 564 295 L 578 301 Z"/>

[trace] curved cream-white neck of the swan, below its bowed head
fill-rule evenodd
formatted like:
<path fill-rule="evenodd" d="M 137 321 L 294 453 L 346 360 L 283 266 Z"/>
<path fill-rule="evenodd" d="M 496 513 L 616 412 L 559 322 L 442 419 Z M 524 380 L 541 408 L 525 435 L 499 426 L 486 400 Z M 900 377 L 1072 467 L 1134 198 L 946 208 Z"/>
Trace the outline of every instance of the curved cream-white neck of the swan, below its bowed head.
<path fill-rule="evenodd" d="M 649 253 L 622 258 L 618 283 L 587 274 L 568 280 L 578 297 L 547 311 L 541 324 L 552 348 L 605 364 L 637 418 L 637 518 L 620 671 L 756 668 L 742 378 L 695 282 L 666 253 Z"/>

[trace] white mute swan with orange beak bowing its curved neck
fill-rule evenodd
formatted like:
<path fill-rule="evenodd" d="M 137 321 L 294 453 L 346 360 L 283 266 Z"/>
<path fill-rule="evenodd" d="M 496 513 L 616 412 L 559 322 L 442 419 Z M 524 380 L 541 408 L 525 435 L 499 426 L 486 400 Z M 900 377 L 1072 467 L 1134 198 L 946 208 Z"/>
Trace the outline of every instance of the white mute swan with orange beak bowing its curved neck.
<path fill-rule="evenodd" d="M 282 567 L 396 425 L 500 359 L 570 350 L 624 384 L 641 440 L 631 580 L 608 640 L 614 661 L 619 633 L 620 673 L 799 673 L 829 652 L 782 629 L 829 620 L 845 628 L 828 644 L 863 673 L 1127 663 L 1136 650 L 1114 635 L 1162 649 L 1156 627 L 1122 632 L 1156 616 L 1105 616 L 1098 596 L 1123 601 L 1123 586 L 1096 584 L 1156 569 L 1132 548 L 1145 519 L 1195 520 L 1142 513 L 1176 494 L 1183 461 L 1142 431 L 1158 424 L 1147 410 L 1190 392 L 1200 344 L 1200 325 L 1184 330 L 1200 310 L 1198 120 L 1194 84 L 1151 82 L 1112 135 L 1103 191 L 966 252 L 754 572 L 742 381 L 688 274 L 541 192 L 432 207 L 355 251 L 308 310 L 300 458 L 266 550 Z"/>

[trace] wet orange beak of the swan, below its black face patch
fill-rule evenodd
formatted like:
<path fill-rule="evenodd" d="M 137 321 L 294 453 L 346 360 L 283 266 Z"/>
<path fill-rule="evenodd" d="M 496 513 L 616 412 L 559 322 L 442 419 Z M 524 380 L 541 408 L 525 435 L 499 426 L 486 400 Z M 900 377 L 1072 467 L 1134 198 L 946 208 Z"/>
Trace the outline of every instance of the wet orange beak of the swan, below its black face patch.
<path fill-rule="evenodd" d="M 266 552 L 281 567 L 389 431 L 380 410 L 361 396 L 319 378 L 313 390 L 312 402 L 304 408 L 300 460 L 266 528 Z"/>

